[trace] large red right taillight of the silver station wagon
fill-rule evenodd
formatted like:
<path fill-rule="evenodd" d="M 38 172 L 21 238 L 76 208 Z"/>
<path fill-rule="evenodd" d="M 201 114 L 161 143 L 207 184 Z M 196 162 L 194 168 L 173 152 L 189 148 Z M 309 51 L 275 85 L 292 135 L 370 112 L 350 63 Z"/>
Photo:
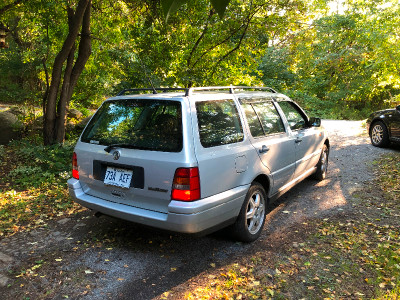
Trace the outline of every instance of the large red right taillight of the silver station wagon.
<path fill-rule="evenodd" d="M 176 169 L 171 198 L 180 201 L 200 199 L 199 168 Z"/>

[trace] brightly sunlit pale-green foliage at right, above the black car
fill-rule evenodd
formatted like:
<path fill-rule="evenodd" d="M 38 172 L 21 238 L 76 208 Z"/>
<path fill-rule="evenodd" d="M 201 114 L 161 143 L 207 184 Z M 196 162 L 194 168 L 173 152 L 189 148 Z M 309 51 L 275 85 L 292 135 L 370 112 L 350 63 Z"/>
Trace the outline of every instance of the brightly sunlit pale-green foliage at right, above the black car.
<path fill-rule="evenodd" d="M 394 106 L 400 94 L 399 13 L 397 1 L 363 0 L 348 3 L 342 14 L 325 12 L 266 51 L 259 67 L 263 82 L 302 95 L 323 116 L 362 119 Z"/>

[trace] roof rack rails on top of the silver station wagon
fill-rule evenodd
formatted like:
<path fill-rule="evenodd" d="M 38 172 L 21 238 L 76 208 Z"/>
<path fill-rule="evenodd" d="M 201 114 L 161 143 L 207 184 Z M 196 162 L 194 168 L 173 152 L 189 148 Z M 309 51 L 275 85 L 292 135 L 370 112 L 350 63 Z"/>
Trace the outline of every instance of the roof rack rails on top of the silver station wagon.
<path fill-rule="evenodd" d="M 184 91 L 185 96 L 191 96 L 195 91 L 214 91 L 214 90 L 229 90 L 230 94 L 234 94 L 235 90 L 263 90 L 271 93 L 277 93 L 273 88 L 270 87 L 259 87 L 259 86 L 208 86 L 208 87 L 191 87 L 191 88 L 137 88 L 137 89 L 125 89 L 117 94 L 117 96 L 125 95 L 127 92 L 142 92 L 151 91 L 153 94 L 157 94 L 157 91 L 162 93 L 171 91 Z"/>

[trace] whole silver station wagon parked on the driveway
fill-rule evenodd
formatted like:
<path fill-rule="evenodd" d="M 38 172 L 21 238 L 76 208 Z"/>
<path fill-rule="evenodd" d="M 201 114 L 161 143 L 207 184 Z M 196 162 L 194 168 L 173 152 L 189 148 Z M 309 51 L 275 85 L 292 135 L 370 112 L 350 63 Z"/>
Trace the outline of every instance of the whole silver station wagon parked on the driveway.
<path fill-rule="evenodd" d="M 68 180 L 76 202 L 177 232 L 230 226 L 251 242 L 275 199 L 326 176 L 321 120 L 271 88 L 149 90 L 106 100 L 86 126 Z"/>

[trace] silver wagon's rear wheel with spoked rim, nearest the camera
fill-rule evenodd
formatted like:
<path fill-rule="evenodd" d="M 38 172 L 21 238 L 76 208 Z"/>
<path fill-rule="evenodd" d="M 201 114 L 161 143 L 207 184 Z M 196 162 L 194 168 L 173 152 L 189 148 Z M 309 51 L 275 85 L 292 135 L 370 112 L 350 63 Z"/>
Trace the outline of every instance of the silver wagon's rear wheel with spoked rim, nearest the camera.
<path fill-rule="evenodd" d="M 246 194 L 239 216 L 232 226 L 234 237 L 242 242 L 253 242 L 260 236 L 265 223 L 267 196 L 258 182 Z"/>

